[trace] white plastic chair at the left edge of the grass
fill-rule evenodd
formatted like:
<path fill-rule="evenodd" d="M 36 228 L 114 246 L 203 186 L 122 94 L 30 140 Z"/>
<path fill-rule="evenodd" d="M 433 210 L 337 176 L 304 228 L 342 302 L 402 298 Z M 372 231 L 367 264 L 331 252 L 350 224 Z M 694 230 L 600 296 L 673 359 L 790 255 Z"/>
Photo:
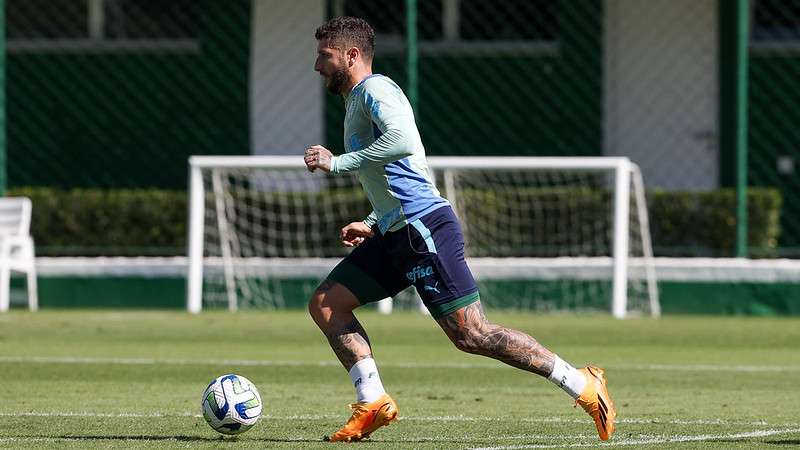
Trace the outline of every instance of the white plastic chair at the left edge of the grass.
<path fill-rule="evenodd" d="M 29 198 L 0 198 L 0 312 L 8 311 L 12 271 L 22 272 L 27 276 L 28 308 L 31 311 L 39 309 L 30 226 Z"/>

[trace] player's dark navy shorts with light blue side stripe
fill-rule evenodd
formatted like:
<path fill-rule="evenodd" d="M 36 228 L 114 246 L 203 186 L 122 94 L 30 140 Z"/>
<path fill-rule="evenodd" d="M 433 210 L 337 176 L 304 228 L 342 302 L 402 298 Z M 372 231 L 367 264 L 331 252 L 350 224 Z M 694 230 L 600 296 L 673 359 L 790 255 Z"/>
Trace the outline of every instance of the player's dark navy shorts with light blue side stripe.
<path fill-rule="evenodd" d="M 438 208 L 405 227 L 375 233 L 328 275 L 364 305 L 414 285 L 438 319 L 479 300 L 464 260 L 461 225 L 450 206 Z"/>

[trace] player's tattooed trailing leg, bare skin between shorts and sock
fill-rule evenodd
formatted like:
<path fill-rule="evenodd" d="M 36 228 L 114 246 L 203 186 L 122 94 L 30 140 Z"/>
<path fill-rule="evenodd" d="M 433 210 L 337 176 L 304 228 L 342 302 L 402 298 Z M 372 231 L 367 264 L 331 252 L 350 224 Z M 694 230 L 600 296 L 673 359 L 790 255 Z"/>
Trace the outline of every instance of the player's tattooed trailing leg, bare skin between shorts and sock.
<path fill-rule="evenodd" d="M 543 377 L 553 371 L 555 355 L 550 350 L 525 333 L 489 323 L 480 301 L 437 322 L 462 351 L 488 356 Z"/>

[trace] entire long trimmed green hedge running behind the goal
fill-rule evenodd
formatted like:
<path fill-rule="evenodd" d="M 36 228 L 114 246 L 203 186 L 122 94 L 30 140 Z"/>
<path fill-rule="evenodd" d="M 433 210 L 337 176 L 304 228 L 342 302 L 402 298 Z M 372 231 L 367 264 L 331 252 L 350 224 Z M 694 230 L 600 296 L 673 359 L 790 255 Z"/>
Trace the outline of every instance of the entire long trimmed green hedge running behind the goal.
<path fill-rule="evenodd" d="M 56 255 L 183 255 L 186 252 L 187 194 L 166 190 L 97 190 L 18 188 L 9 195 L 24 195 L 33 201 L 32 233 L 37 253 Z M 339 229 L 361 218 L 368 210 L 363 193 L 351 189 L 320 193 L 275 194 L 272 198 L 250 198 L 248 202 L 275 204 L 285 197 L 281 214 L 309 213 L 308 205 L 323 204 L 319 198 L 344 196 L 358 201 L 324 211 L 318 223 L 290 225 L 278 230 L 284 236 L 297 235 L 291 245 L 277 245 L 279 256 L 317 254 L 304 247 L 302 236 L 328 236 L 323 248 L 327 256 L 343 255 Z M 473 256 L 553 256 L 555 249 L 578 241 L 578 234 L 607 228 L 612 199 L 606 190 L 588 188 L 519 188 L 503 192 L 464 191 L 459 204 L 470 223 L 466 233 Z M 307 198 L 299 198 L 300 196 Z M 748 194 L 749 245 L 754 256 L 774 256 L 780 236 L 782 198 L 775 189 L 753 188 Z M 558 205 L 549 208 L 548 205 Z M 533 206 L 528 206 L 533 205 Z M 733 190 L 712 192 L 648 193 L 650 227 L 657 255 L 732 256 L 736 236 L 736 195 Z M 481 217 L 482 216 L 482 217 Z M 497 217 L 513 220 L 501 223 Z M 534 220 L 533 217 L 537 217 Z M 605 223 L 604 223 L 605 222 Z M 491 241 L 481 239 L 491 234 Z M 586 247 L 591 256 L 605 252 Z M 319 250 L 319 249 L 313 249 Z"/>

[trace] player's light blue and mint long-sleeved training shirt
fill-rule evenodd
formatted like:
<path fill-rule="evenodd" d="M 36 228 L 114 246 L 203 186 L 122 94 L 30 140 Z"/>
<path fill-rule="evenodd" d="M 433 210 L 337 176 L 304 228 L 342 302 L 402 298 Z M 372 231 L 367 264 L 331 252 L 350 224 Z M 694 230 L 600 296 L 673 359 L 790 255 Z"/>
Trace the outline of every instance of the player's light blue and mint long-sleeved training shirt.
<path fill-rule="evenodd" d="M 449 205 L 433 182 L 425 147 L 405 94 L 383 75 L 361 80 L 345 97 L 344 146 L 331 173 L 358 171 L 381 233 Z"/>

